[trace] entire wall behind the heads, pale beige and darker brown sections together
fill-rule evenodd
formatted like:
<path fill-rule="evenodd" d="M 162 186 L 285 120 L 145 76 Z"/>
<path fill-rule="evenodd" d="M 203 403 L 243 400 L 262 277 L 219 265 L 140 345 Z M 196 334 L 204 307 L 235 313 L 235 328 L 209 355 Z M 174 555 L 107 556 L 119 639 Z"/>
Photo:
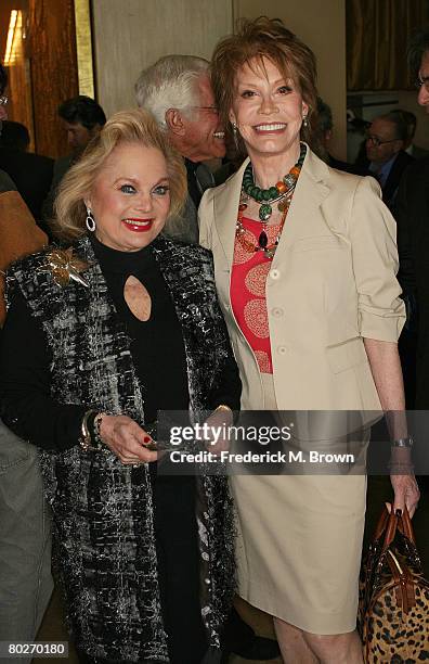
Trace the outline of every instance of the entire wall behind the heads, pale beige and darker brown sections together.
<path fill-rule="evenodd" d="M 233 20 L 265 14 L 314 51 L 318 88 L 332 106 L 333 153 L 346 158 L 346 0 L 93 0 L 95 80 L 107 115 L 135 105 L 140 71 L 168 53 L 210 59 Z"/>

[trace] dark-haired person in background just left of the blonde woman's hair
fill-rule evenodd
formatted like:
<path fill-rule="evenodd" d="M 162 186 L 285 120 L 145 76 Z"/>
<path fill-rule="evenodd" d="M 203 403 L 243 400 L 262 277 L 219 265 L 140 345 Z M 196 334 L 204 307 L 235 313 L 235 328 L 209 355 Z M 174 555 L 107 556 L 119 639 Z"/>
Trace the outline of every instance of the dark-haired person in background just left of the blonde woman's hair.
<path fill-rule="evenodd" d="M 75 164 L 90 140 L 101 131 L 106 116 L 100 104 L 90 97 L 79 94 L 67 99 L 58 106 L 58 116 L 67 132 L 70 153 L 55 159 L 49 193 L 43 203 L 43 220 L 52 237 L 53 206 L 58 184 L 67 170 Z"/>

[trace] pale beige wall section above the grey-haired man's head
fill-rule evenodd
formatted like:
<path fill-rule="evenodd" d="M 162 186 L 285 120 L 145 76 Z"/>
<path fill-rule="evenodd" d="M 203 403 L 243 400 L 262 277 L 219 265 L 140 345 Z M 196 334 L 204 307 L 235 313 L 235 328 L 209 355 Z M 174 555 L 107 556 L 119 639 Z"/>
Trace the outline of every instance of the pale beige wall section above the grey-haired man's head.
<path fill-rule="evenodd" d="M 106 115 L 135 106 L 141 69 L 169 53 L 210 59 L 232 24 L 232 0 L 93 0 L 95 80 Z"/>

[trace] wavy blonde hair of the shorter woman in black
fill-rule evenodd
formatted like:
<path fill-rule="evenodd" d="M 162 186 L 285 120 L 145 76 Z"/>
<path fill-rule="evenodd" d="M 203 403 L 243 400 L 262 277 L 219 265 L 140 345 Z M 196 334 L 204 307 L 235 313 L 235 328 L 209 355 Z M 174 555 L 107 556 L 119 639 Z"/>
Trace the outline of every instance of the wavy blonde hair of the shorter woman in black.
<path fill-rule="evenodd" d="M 84 235 L 86 205 L 92 186 L 113 150 L 121 143 L 141 143 L 159 150 L 167 162 L 170 184 L 170 210 L 167 230 L 174 234 L 174 224 L 181 224 L 181 212 L 186 200 L 186 169 L 182 157 L 159 129 L 155 118 L 142 108 L 115 113 L 89 143 L 79 162 L 66 173 L 55 201 L 55 234 L 62 240 Z M 167 226 L 166 225 L 166 226 Z"/>

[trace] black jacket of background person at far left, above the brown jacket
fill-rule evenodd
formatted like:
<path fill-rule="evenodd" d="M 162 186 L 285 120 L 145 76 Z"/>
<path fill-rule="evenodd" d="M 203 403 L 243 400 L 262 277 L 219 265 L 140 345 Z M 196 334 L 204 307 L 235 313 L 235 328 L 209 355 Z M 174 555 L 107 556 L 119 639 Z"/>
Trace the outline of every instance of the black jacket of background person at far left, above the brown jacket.
<path fill-rule="evenodd" d="M 51 187 L 53 164 L 53 159 L 39 154 L 0 148 L 0 168 L 15 182 L 36 220 L 41 219 L 41 206 Z"/>

